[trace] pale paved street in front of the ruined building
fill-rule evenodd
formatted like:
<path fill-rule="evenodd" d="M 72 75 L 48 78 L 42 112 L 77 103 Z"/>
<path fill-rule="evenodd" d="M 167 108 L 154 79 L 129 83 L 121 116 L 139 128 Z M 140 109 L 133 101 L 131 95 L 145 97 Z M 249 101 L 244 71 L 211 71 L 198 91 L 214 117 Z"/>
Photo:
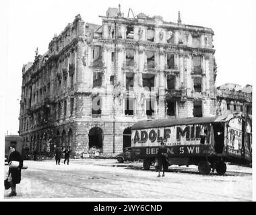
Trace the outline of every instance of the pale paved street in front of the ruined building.
<path fill-rule="evenodd" d="M 156 177 L 154 167 L 142 163 L 117 163 L 115 159 L 24 161 L 18 196 L 12 198 L 147 198 L 177 201 L 251 201 L 252 169 L 228 165 L 226 175 L 199 175 L 196 166 L 169 167 Z M 5 166 L 5 171 L 7 171 Z M 4 198 L 9 198 L 9 190 Z"/>

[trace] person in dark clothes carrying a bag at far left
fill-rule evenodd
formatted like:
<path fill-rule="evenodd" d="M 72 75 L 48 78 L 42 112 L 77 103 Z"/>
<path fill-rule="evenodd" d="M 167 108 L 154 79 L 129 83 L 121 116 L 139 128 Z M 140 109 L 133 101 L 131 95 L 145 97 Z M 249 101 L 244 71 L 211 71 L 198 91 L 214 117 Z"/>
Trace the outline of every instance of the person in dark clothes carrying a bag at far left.
<path fill-rule="evenodd" d="M 9 146 L 9 151 L 8 163 L 11 161 L 18 161 L 20 163 L 18 168 L 9 168 L 8 181 L 11 185 L 11 193 L 9 193 L 9 197 L 11 197 L 17 196 L 16 184 L 20 183 L 22 179 L 23 159 L 20 153 L 15 150 L 15 146 Z"/>

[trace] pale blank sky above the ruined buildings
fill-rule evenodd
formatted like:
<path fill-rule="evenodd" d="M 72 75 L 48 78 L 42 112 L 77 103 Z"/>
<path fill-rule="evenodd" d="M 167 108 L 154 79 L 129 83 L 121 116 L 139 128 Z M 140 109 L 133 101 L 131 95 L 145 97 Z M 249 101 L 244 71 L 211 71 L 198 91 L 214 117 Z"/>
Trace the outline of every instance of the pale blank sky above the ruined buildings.
<path fill-rule="evenodd" d="M 34 61 L 35 50 L 44 54 L 55 34 L 60 34 L 78 13 L 85 22 L 101 24 L 99 15 L 108 7 L 118 7 L 127 17 L 129 8 L 137 15 L 161 15 L 164 21 L 177 22 L 181 11 L 183 24 L 214 30 L 218 73 L 216 85 L 237 83 L 253 85 L 253 0 L 168 0 L 168 1 L 86 1 L 86 0 L 5 0 L 3 1 L 3 67 L 1 74 L 0 130 L 18 134 L 22 67 Z M 2 19 L 1 19 L 2 20 Z M 255 25 L 255 23 L 254 23 Z M 255 44 L 255 43 L 254 43 Z"/>

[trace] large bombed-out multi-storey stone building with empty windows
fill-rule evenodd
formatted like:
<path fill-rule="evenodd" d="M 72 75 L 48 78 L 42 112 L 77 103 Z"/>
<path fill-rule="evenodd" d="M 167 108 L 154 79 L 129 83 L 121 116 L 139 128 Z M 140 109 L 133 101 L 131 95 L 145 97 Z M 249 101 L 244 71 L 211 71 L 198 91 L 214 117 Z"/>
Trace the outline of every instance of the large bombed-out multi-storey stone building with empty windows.
<path fill-rule="evenodd" d="M 30 151 L 71 146 L 120 153 L 138 120 L 216 115 L 216 63 L 210 28 L 165 22 L 119 8 L 80 15 L 45 54 L 22 70 L 20 136 Z"/>

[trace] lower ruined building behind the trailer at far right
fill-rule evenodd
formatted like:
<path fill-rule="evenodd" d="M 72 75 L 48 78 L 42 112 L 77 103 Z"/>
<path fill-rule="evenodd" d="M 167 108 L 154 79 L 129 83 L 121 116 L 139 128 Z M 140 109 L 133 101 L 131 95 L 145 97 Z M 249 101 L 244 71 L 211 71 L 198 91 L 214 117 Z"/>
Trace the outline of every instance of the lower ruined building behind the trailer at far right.
<path fill-rule="evenodd" d="M 252 115 L 253 87 L 226 83 L 217 87 L 216 114 L 243 112 Z"/>

